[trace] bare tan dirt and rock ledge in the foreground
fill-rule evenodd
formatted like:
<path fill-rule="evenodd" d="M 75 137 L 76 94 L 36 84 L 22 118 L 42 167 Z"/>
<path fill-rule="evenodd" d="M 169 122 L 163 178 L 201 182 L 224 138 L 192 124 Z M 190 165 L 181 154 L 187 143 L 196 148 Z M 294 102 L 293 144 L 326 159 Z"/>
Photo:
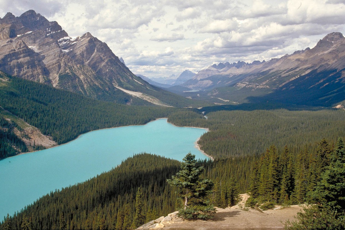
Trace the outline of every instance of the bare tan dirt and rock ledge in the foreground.
<path fill-rule="evenodd" d="M 247 195 L 243 194 L 244 200 Z M 244 203 L 244 201 L 242 201 Z M 243 205 L 244 207 L 244 205 Z M 206 230 L 206 229 L 232 229 L 232 230 L 275 230 L 284 229 L 284 223 L 287 220 L 294 220 L 297 212 L 302 207 L 293 205 L 285 208 L 276 206 L 275 209 L 267 211 L 258 211 L 249 209 L 248 211 L 241 209 L 238 205 L 220 209 L 213 220 L 204 221 L 186 221 L 176 217 L 176 212 L 170 213 L 167 217 L 161 217 L 151 224 L 139 227 L 141 230 L 163 229 L 163 230 Z"/>

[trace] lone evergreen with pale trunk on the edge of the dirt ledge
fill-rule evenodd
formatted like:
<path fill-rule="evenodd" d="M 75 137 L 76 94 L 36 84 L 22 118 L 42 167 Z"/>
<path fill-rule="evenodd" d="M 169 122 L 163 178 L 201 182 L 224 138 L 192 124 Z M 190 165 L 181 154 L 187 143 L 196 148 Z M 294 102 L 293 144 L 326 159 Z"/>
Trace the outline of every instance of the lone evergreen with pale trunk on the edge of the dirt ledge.
<path fill-rule="evenodd" d="M 199 177 L 204 167 L 197 167 L 195 155 L 190 152 L 181 162 L 181 170 L 168 179 L 171 186 L 176 186 L 184 198 L 184 208 L 179 210 L 179 216 L 184 219 L 211 219 L 215 208 L 205 199 L 213 188 L 209 179 L 201 180 Z"/>

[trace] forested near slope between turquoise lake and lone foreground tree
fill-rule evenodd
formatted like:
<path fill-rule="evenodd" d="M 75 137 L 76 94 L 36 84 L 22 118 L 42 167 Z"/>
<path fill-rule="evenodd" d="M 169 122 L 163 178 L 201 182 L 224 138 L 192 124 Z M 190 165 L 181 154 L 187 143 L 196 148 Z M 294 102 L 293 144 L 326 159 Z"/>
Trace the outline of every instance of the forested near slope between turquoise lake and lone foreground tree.
<path fill-rule="evenodd" d="M 56 190 L 11 217 L 1 229 L 21 229 L 27 217 L 31 229 L 129 229 L 138 188 L 144 220 L 174 211 L 176 197 L 166 179 L 179 162 L 151 154 L 128 158 L 107 173 L 75 186 Z"/>

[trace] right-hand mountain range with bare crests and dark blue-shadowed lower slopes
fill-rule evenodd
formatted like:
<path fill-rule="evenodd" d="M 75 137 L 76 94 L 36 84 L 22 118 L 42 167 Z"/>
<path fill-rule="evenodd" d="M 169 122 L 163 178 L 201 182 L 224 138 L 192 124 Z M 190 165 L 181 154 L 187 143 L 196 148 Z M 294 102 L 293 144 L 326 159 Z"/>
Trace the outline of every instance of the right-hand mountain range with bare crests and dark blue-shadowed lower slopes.
<path fill-rule="evenodd" d="M 219 63 L 181 86 L 218 103 L 277 101 L 332 106 L 345 100 L 345 38 L 327 34 L 312 49 L 269 61 Z"/>

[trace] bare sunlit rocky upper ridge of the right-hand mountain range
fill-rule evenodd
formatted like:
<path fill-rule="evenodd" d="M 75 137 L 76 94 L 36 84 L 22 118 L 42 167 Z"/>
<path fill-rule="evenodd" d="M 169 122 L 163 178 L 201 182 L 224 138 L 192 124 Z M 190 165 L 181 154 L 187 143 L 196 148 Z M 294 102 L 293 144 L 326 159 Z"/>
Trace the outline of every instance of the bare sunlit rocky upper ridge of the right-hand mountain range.
<path fill-rule="evenodd" d="M 345 68 L 345 38 L 340 32 L 333 32 L 327 34 L 322 40 L 316 44 L 312 49 L 306 48 L 305 50 L 295 51 L 293 54 L 286 54 L 281 58 L 274 58 L 269 61 L 254 61 L 253 63 L 245 63 L 238 61 L 230 64 L 219 63 L 213 64 L 207 69 L 199 71 L 194 78 L 185 82 L 183 86 L 196 89 L 200 86 L 204 88 L 218 87 L 214 81 L 211 81 L 211 76 L 225 76 L 228 81 L 221 82 L 221 86 L 226 86 L 236 82 L 246 82 L 256 78 L 255 74 L 268 72 L 280 72 L 280 77 L 286 77 L 297 73 L 301 76 L 307 74 L 315 69 L 344 69 Z M 236 78 L 239 74 L 246 74 Z M 231 79 L 233 78 L 233 79 Z M 266 79 L 265 79 L 266 80 Z M 272 79 L 273 80 L 273 79 Z M 291 78 L 286 79 L 282 84 L 286 84 Z M 206 81 L 206 82 L 203 82 Z M 236 82 L 236 83 L 237 83 Z M 268 85 L 265 81 L 259 81 L 260 85 Z M 248 82 L 249 84 L 249 82 Z M 219 83 L 218 83 L 219 85 Z M 280 84 L 278 85 L 280 86 Z"/>

